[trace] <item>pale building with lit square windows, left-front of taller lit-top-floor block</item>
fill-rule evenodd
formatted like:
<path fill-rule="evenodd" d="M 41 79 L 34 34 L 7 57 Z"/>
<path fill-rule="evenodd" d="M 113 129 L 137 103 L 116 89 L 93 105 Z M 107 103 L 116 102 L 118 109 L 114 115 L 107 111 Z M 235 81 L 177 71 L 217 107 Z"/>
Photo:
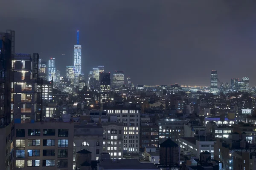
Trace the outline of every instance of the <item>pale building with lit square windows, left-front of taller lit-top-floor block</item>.
<path fill-rule="evenodd" d="M 107 152 L 111 159 L 123 158 L 124 125 L 118 122 L 104 122 L 103 128 L 103 152 Z"/>

